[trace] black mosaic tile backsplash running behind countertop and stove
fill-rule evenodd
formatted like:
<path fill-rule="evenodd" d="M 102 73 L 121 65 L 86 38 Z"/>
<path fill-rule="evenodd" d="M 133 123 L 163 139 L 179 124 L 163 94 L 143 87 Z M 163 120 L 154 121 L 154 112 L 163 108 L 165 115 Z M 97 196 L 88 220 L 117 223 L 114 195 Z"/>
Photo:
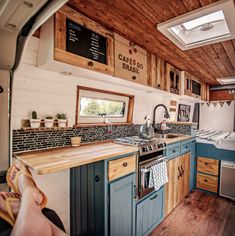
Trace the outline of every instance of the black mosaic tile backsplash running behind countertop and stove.
<path fill-rule="evenodd" d="M 159 124 L 158 124 L 159 125 Z M 191 125 L 167 124 L 170 133 L 191 134 Z M 106 126 L 71 128 L 65 130 L 30 131 L 13 130 L 13 152 L 37 150 L 52 147 L 70 146 L 70 138 L 82 137 L 82 143 L 115 139 L 138 135 L 140 125 L 119 125 L 112 127 L 112 133 Z"/>

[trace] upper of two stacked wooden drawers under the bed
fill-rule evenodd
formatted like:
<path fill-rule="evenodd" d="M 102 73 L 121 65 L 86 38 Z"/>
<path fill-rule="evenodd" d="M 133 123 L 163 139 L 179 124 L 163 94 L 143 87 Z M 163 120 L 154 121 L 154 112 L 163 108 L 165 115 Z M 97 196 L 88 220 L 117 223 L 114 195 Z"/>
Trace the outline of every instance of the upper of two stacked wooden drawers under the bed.
<path fill-rule="evenodd" d="M 217 176 L 219 171 L 219 161 L 204 157 L 198 157 L 197 171 Z"/>

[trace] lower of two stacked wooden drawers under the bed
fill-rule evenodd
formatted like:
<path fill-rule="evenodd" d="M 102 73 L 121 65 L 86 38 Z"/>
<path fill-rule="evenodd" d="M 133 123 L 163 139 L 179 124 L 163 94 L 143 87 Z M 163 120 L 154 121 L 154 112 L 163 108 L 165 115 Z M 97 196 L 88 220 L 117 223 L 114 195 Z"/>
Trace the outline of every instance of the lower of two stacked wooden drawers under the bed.
<path fill-rule="evenodd" d="M 217 193 L 218 177 L 197 173 L 197 188 Z"/>

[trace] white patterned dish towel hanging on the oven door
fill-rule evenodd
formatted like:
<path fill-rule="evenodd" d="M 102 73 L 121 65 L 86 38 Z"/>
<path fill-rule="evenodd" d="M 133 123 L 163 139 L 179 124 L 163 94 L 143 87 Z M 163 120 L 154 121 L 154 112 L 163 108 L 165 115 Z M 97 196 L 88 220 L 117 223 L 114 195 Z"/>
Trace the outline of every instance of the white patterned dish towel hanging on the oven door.
<path fill-rule="evenodd" d="M 150 167 L 149 187 L 157 191 L 168 182 L 166 161 Z"/>

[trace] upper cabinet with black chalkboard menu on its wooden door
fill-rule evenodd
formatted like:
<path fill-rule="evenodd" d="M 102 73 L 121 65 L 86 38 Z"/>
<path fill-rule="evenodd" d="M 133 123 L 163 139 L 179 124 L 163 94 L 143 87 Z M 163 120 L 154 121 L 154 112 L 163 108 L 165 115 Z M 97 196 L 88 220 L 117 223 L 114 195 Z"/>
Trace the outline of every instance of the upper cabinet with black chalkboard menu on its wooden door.
<path fill-rule="evenodd" d="M 41 42 L 42 47 L 51 46 L 52 60 L 114 74 L 113 33 L 68 6 L 42 26 Z M 39 65 L 47 62 L 47 51 L 41 48 Z"/>

